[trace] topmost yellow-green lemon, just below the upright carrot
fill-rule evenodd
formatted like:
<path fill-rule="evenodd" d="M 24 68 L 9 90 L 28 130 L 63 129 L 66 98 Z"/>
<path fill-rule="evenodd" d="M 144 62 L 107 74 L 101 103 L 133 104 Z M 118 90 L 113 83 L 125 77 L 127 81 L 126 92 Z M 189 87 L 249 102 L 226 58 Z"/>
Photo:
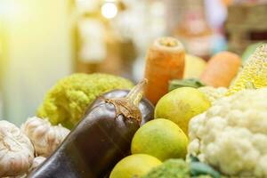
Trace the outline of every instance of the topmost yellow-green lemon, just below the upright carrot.
<path fill-rule="evenodd" d="M 182 87 L 166 93 L 155 109 L 155 118 L 166 118 L 182 128 L 188 134 L 188 125 L 192 117 L 206 111 L 211 106 L 204 93 L 191 87 Z"/>

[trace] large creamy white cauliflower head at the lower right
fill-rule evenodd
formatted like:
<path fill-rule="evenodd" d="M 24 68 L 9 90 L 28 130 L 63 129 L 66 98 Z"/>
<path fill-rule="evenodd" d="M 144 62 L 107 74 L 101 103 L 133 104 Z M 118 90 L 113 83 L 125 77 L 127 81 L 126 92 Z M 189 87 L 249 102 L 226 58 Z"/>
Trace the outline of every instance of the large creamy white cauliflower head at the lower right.
<path fill-rule="evenodd" d="M 239 177 L 267 177 L 267 88 L 223 97 L 190 120 L 189 154 Z"/>

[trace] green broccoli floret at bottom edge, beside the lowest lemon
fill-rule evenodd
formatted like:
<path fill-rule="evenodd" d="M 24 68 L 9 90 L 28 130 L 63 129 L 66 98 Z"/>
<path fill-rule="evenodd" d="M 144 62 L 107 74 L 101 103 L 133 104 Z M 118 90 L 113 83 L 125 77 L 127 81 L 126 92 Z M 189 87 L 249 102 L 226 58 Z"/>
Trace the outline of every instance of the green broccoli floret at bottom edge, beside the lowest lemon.
<path fill-rule="evenodd" d="M 190 166 L 182 159 L 168 159 L 142 178 L 190 178 Z"/>

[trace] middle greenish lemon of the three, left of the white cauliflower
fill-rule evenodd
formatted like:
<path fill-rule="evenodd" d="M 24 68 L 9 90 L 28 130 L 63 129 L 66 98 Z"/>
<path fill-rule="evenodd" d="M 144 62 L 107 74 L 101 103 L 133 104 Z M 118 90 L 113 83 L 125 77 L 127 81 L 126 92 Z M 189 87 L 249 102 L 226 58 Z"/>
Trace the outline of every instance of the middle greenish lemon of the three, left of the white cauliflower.
<path fill-rule="evenodd" d="M 144 153 L 161 161 L 168 158 L 185 158 L 187 136 L 174 122 L 158 118 L 142 125 L 134 134 L 131 145 L 133 154 Z"/>

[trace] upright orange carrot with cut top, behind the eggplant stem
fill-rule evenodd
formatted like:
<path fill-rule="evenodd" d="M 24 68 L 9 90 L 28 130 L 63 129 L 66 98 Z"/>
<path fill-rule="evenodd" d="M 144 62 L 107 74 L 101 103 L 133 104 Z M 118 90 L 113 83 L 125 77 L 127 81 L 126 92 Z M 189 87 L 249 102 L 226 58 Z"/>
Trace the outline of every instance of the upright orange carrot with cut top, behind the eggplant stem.
<path fill-rule="evenodd" d="M 184 70 L 185 52 L 182 44 L 173 37 L 158 38 L 146 57 L 145 78 L 148 84 L 144 95 L 153 103 L 168 92 L 172 79 L 181 79 Z"/>

